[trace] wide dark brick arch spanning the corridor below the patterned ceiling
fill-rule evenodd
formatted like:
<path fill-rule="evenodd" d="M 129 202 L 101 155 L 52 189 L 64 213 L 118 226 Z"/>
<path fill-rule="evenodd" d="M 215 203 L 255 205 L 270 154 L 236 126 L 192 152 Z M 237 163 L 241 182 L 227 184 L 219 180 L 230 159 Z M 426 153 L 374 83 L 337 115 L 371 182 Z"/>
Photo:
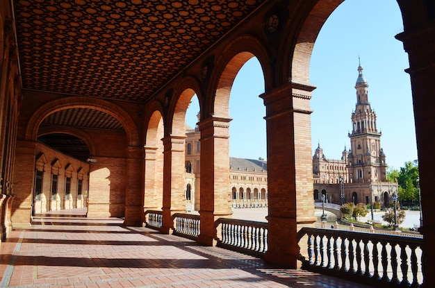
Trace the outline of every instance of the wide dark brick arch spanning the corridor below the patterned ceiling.
<path fill-rule="evenodd" d="M 35 113 L 33 113 L 31 119 L 28 121 L 25 134 L 26 139 L 35 140 L 38 138 L 39 126 L 45 117 L 54 112 L 69 108 L 90 108 L 105 112 L 108 115 L 115 117 L 115 119 L 120 121 L 124 127 L 124 130 L 126 131 L 128 145 L 140 145 L 141 142 L 136 124 L 134 123 L 133 119 L 131 119 L 128 112 L 108 101 L 89 99 L 88 97 L 79 96 L 58 99 L 42 105 L 38 110 L 35 111 Z"/>

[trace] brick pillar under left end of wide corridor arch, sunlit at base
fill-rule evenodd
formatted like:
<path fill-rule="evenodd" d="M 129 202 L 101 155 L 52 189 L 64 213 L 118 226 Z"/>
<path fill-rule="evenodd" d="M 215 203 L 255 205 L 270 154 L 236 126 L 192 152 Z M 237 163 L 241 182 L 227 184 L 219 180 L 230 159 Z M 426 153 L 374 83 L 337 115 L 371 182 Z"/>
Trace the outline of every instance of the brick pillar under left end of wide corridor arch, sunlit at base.
<path fill-rule="evenodd" d="M 15 196 L 11 216 L 13 229 L 31 227 L 36 143 L 17 141 L 12 190 L 12 194 Z"/>

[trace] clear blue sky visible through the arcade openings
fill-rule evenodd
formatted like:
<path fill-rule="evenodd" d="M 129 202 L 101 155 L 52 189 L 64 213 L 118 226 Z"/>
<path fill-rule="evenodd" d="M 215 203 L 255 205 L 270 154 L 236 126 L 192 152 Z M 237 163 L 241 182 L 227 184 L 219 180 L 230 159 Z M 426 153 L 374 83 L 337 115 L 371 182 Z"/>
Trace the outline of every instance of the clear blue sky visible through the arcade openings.
<path fill-rule="evenodd" d="M 317 87 L 311 99 L 313 151 L 320 142 L 328 159 L 339 159 L 344 147 L 350 148 L 347 133 L 352 128 L 360 57 L 388 165 L 399 169 L 417 159 L 411 83 L 404 72 L 408 56 L 394 37 L 402 31 L 395 0 L 345 0 L 327 19 L 311 57 L 310 83 Z M 258 97 L 263 92 L 261 67 L 253 58 L 240 69 L 231 90 L 231 157 L 267 158 L 265 107 Z M 192 127 L 198 111 L 193 99 L 186 115 Z"/>

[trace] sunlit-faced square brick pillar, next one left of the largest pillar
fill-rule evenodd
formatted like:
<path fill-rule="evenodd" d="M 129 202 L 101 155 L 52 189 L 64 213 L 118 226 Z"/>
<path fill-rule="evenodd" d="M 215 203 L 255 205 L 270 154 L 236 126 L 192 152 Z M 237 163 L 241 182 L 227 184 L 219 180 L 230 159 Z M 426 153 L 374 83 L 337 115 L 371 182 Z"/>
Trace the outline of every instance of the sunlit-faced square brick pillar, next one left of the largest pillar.
<path fill-rule="evenodd" d="M 229 189 L 229 121 L 229 118 L 211 117 L 198 124 L 201 131 L 201 232 L 197 242 L 206 246 L 217 243 L 215 221 L 232 214 Z"/>

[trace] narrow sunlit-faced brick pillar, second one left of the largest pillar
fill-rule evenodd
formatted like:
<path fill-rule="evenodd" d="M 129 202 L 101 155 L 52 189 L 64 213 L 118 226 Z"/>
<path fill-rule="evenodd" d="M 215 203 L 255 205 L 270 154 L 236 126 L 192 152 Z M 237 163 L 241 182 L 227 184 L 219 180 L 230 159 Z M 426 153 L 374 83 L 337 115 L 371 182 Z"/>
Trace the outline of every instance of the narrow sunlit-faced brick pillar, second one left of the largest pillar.
<path fill-rule="evenodd" d="M 184 196 L 184 149 L 186 135 L 163 138 L 163 225 L 160 232 L 172 234 L 173 215 L 186 212 Z"/>

